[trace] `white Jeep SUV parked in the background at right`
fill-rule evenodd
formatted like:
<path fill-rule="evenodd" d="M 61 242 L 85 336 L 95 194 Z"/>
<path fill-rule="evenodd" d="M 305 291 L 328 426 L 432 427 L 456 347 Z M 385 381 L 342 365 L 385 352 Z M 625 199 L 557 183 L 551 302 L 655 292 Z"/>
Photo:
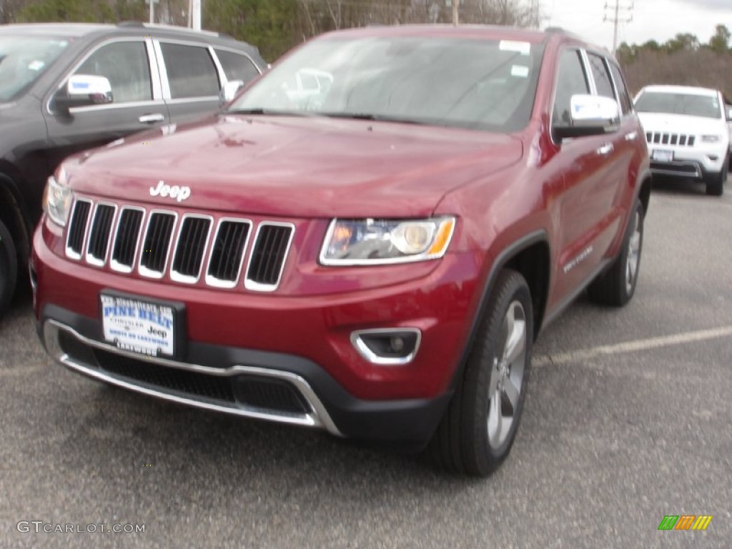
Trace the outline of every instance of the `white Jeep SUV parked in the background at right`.
<path fill-rule="evenodd" d="M 646 86 L 635 97 L 651 154 L 651 171 L 703 179 L 720 196 L 728 174 L 729 113 L 720 91 L 692 86 Z"/>

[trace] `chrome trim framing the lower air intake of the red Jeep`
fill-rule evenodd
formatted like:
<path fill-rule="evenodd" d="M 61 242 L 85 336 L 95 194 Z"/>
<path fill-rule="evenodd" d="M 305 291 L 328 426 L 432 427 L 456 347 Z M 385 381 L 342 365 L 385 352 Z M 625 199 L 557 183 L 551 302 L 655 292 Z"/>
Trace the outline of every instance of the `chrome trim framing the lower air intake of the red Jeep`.
<path fill-rule="evenodd" d="M 294 388 L 300 393 L 300 395 L 302 395 L 307 405 L 310 406 L 311 412 L 310 414 L 286 414 L 284 412 L 276 414 L 272 411 L 264 410 L 262 408 L 255 408 L 253 406 L 225 406 L 223 404 L 213 404 L 203 402 L 201 400 L 195 400 L 194 398 L 179 397 L 155 389 L 138 386 L 136 384 L 132 384 L 120 378 L 117 378 L 110 373 L 105 373 L 97 370 L 94 367 L 90 367 L 89 365 L 83 364 L 81 362 L 76 362 L 68 354 L 64 353 L 64 350 L 61 348 L 61 344 L 59 343 L 59 332 L 61 331 L 67 332 L 68 334 L 76 337 L 78 340 L 90 347 L 102 349 L 102 351 L 107 351 L 123 356 L 130 356 L 135 359 L 140 359 L 141 356 L 127 351 L 122 351 L 114 346 L 107 345 L 105 343 L 90 340 L 89 338 L 84 337 L 83 335 L 76 332 L 75 329 L 72 329 L 69 326 L 65 326 L 64 324 L 61 324 L 57 321 L 45 321 L 45 323 L 43 324 L 43 342 L 45 344 L 46 351 L 48 351 L 48 354 L 50 354 L 53 359 L 60 362 L 62 365 L 66 366 L 70 370 L 75 370 L 76 372 L 82 373 L 85 376 L 89 376 L 100 381 L 105 381 L 106 383 L 112 385 L 124 387 L 124 389 L 130 389 L 131 391 L 139 392 L 143 395 L 158 397 L 163 400 L 168 400 L 170 402 L 185 404 L 187 406 L 194 406 L 195 408 L 220 411 L 224 412 L 225 414 L 233 414 L 242 417 L 265 419 L 267 421 L 286 423 L 288 425 L 317 427 L 327 430 L 332 435 L 343 436 L 343 433 L 340 433 L 338 428 L 335 426 L 335 423 L 332 421 L 331 417 L 326 411 L 325 406 L 323 406 L 323 403 L 321 403 L 321 400 L 318 398 L 317 395 L 315 395 L 315 392 L 313 391 L 312 387 L 310 387 L 310 384 L 308 384 L 304 378 L 298 376 L 297 374 L 291 372 L 283 372 L 280 370 L 269 370 L 268 368 L 244 365 L 234 365 L 225 369 L 218 369 L 208 366 L 186 364 L 184 362 L 177 362 L 174 360 L 160 359 L 152 356 L 144 357 L 145 360 L 149 360 L 149 362 L 153 362 L 157 365 L 178 368 L 179 370 L 189 370 L 196 373 L 204 373 L 209 376 L 228 377 L 238 376 L 241 374 L 249 374 L 253 376 L 275 378 L 281 381 L 286 381 L 294 386 Z"/>

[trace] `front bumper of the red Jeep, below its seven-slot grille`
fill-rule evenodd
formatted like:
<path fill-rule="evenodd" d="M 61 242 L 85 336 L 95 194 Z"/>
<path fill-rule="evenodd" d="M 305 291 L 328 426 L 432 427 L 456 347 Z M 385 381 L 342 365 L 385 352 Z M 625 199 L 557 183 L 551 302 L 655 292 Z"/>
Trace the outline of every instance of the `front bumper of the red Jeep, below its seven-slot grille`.
<path fill-rule="evenodd" d="M 49 354 L 72 370 L 190 406 L 403 449 L 427 444 L 449 402 L 474 314 L 471 255 L 448 255 L 427 277 L 385 288 L 233 295 L 72 263 L 53 252 L 44 225 L 31 267 L 37 326 Z M 183 302 L 184 354 L 151 358 L 106 343 L 99 294 L 110 288 Z M 351 342 L 354 331 L 395 326 L 422 335 L 406 365 L 371 364 Z"/>

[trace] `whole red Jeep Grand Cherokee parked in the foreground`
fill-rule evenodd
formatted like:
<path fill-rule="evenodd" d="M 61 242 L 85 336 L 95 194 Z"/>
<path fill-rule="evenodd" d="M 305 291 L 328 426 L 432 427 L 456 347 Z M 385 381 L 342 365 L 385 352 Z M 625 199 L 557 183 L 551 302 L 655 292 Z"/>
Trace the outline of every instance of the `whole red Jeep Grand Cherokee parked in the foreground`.
<path fill-rule="evenodd" d="M 160 133 L 48 182 L 38 329 L 86 376 L 485 475 L 540 327 L 633 294 L 646 143 L 616 62 L 559 31 L 326 34 Z"/>

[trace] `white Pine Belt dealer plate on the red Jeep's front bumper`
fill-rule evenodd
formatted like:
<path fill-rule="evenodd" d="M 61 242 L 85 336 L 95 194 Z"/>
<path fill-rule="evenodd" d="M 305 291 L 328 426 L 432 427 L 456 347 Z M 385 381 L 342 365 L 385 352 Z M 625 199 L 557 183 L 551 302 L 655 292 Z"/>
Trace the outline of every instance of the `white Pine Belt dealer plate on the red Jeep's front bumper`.
<path fill-rule="evenodd" d="M 173 356 L 176 309 L 128 296 L 100 294 L 104 339 L 124 351 Z"/>

